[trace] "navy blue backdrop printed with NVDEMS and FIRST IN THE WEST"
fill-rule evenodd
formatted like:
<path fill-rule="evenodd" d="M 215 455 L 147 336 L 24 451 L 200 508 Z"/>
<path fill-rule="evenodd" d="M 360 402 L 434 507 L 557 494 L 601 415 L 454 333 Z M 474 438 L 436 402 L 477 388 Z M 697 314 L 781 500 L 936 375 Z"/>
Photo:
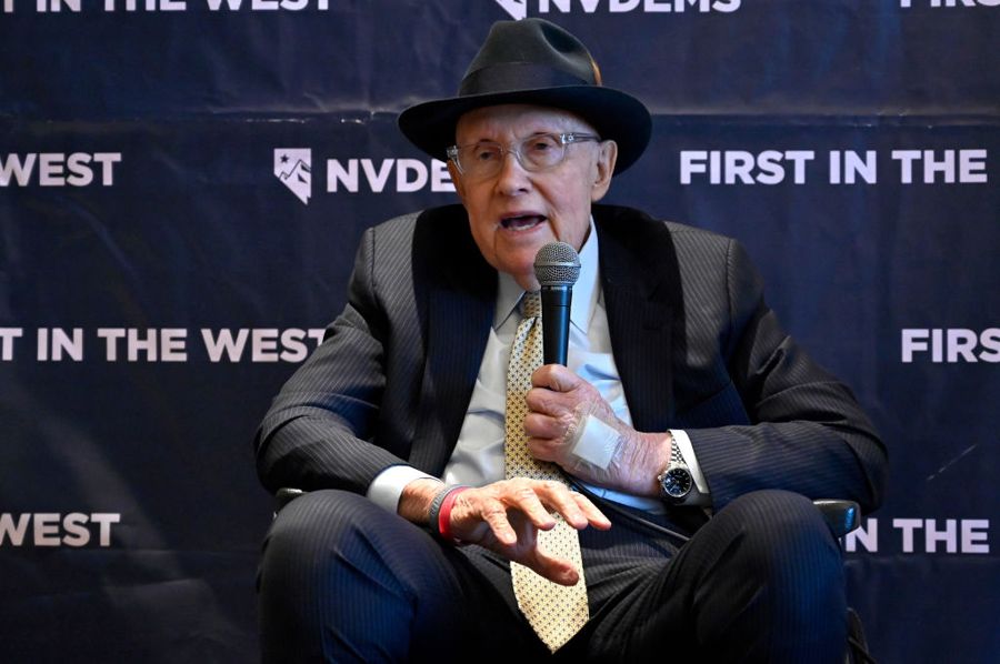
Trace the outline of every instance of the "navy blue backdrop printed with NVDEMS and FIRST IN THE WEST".
<path fill-rule="evenodd" d="M 0 0 L 0 661 L 257 660 L 254 427 L 523 16 L 653 111 L 609 202 L 742 240 L 881 430 L 876 655 L 1000 661 L 998 0 Z"/>

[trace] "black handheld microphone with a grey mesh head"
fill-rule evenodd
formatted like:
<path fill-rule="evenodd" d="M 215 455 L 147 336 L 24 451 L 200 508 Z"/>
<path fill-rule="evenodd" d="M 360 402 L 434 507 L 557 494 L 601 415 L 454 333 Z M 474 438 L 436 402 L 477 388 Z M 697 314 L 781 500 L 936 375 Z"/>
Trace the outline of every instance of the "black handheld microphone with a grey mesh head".
<path fill-rule="evenodd" d="M 534 278 L 541 285 L 544 362 L 564 366 L 573 284 L 580 278 L 577 250 L 566 242 L 549 242 L 534 256 Z"/>

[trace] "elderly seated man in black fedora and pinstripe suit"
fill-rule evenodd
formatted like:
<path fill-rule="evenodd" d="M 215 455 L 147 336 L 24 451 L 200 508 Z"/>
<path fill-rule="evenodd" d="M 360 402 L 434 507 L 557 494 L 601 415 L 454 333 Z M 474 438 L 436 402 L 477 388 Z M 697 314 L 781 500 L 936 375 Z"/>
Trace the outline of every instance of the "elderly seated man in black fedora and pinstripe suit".
<path fill-rule="evenodd" d="M 573 36 L 500 22 L 408 109 L 461 205 L 370 229 L 343 313 L 257 440 L 266 662 L 836 662 L 839 547 L 886 453 L 734 241 L 597 204 L 650 135 Z M 540 366 L 539 249 L 579 252 Z"/>

